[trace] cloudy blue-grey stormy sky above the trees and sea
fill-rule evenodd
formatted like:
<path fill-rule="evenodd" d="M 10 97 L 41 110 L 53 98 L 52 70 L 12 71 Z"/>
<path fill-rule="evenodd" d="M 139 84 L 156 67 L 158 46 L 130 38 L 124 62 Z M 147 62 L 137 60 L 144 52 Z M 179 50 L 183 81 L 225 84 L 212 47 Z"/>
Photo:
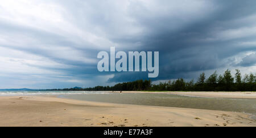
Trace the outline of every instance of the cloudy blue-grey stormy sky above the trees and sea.
<path fill-rule="evenodd" d="M 97 54 L 159 51 L 153 81 L 256 72 L 255 0 L 0 2 L 0 88 L 71 88 L 148 79 L 99 72 Z"/>

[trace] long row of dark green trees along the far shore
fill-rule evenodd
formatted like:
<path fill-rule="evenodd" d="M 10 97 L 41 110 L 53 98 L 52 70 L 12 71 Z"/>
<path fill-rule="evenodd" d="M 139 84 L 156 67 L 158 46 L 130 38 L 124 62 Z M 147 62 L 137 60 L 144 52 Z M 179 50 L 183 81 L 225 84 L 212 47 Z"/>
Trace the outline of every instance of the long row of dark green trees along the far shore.
<path fill-rule="evenodd" d="M 97 86 L 93 88 L 69 88 L 51 90 L 150 90 L 150 91 L 256 91 L 256 74 L 250 73 L 242 77 L 240 70 L 236 70 L 234 76 L 230 70 L 226 70 L 223 75 L 213 72 L 208 78 L 205 73 L 201 73 L 196 81 L 185 81 L 183 78 L 165 83 L 152 84 L 151 80 L 136 80 L 125 83 L 118 83 L 114 86 Z"/>

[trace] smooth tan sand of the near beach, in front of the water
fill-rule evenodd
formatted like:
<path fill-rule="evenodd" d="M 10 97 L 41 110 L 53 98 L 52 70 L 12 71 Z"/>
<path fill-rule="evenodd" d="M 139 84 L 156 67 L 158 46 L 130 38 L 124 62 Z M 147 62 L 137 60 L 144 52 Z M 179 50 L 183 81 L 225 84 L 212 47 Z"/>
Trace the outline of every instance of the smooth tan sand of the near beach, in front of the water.
<path fill-rule="evenodd" d="M 0 97 L 0 126 L 256 126 L 243 113 L 57 98 Z"/>

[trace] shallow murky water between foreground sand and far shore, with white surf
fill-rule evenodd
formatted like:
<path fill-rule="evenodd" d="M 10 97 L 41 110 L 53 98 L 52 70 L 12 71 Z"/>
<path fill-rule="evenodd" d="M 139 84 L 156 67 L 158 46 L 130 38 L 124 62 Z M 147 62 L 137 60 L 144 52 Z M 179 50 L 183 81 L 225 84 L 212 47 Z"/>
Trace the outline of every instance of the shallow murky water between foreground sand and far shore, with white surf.
<path fill-rule="evenodd" d="M 0 96 L 56 95 L 60 98 L 75 100 L 123 103 L 133 105 L 183 107 L 234 111 L 251 114 L 256 120 L 256 100 L 237 98 L 200 98 L 157 93 L 109 93 L 88 91 L 0 91 Z"/>

